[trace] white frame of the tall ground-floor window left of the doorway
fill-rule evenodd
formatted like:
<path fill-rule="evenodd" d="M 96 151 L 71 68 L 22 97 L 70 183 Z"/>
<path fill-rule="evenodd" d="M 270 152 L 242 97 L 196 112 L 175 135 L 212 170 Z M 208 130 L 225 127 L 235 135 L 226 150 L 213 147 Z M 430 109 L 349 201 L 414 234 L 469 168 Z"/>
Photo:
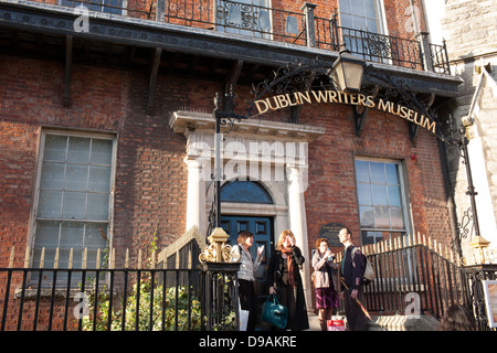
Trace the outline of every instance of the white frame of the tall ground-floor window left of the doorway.
<path fill-rule="evenodd" d="M 113 244 L 113 234 L 114 234 L 114 188 L 115 188 L 115 175 L 116 175 L 116 153 L 117 153 L 117 135 L 116 133 L 104 133 L 104 132 L 87 132 L 87 131 L 78 131 L 78 130 L 64 130 L 64 129 L 52 129 L 52 128 L 42 128 L 40 133 L 40 143 L 39 143 L 39 156 L 36 162 L 36 181 L 35 181 L 35 191 L 33 199 L 33 207 L 31 211 L 31 222 L 30 222 L 30 231 L 29 231 L 29 246 L 31 249 L 30 254 L 30 266 L 33 266 L 34 260 L 34 244 L 35 244 L 35 234 L 36 234 L 36 221 L 39 217 L 38 207 L 40 201 L 40 185 L 41 185 L 41 176 L 42 176 L 42 167 L 43 167 L 43 158 L 45 152 L 45 139 L 47 135 L 57 135 L 64 137 L 80 137 L 80 138 L 94 138 L 94 139 L 106 139 L 113 141 L 113 150 L 112 150 L 112 160 L 110 160 L 110 192 L 109 192 L 109 202 L 108 202 L 108 217 L 107 220 L 85 220 L 86 222 L 95 222 L 98 223 L 107 223 L 107 242 L 108 246 L 112 247 Z M 41 218 L 44 220 L 44 218 Z M 64 221 L 63 217 L 54 218 L 54 221 Z M 82 221 L 84 222 L 84 221 Z M 104 254 L 102 254 L 102 257 Z M 88 264 L 88 268 L 95 268 L 95 264 Z M 62 267 L 60 267 L 62 268 Z M 74 268 L 74 267 L 73 267 Z"/>

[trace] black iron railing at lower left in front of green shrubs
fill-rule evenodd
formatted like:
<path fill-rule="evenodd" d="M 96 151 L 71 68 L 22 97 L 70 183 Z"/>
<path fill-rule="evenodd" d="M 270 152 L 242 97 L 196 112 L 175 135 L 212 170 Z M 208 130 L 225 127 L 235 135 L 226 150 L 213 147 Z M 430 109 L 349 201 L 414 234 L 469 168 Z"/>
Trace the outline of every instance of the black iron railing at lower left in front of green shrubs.
<path fill-rule="evenodd" d="M 237 330 L 239 264 L 0 268 L 0 331 Z"/>

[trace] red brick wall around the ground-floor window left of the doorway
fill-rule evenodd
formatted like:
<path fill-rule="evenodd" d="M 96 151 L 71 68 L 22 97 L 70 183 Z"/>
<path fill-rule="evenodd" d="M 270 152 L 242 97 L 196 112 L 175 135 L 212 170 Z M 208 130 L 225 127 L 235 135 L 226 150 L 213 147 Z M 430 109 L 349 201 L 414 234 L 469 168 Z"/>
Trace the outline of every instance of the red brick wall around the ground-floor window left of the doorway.
<path fill-rule="evenodd" d="M 118 254 L 149 244 L 156 231 L 163 245 L 183 232 L 186 139 L 169 129 L 168 111 L 189 106 L 201 85 L 192 88 L 159 78 L 163 84 L 156 93 L 157 113 L 147 116 L 148 74 L 74 65 L 68 108 L 62 104 L 61 64 L 3 56 L 0 76 L 6 83 L 0 85 L 1 266 L 13 244 L 15 263 L 24 257 L 42 126 L 118 137 L 114 228 Z"/>

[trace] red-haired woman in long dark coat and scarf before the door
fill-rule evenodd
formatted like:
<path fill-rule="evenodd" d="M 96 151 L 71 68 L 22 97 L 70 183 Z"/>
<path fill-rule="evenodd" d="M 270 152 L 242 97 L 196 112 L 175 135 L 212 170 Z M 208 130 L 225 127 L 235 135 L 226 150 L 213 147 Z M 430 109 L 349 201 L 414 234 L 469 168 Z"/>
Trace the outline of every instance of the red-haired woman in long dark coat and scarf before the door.
<path fill-rule="evenodd" d="M 300 277 L 305 258 L 295 243 L 292 231 L 283 231 L 279 234 L 276 252 L 271 256 L 267 269 L 267 284 L 269 295 L 275 293 L 279 303 L 288 308 L 286 329 L 300 331 L 309 328 L 309 320 Z"/>

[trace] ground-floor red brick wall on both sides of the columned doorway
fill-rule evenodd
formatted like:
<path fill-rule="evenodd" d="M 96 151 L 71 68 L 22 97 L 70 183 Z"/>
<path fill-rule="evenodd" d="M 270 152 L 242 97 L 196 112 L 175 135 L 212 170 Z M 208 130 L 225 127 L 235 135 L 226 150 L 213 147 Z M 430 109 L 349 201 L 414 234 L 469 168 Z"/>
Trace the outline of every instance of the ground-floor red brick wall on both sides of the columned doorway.
<path fill-rule="evenodd" d="M 135 257 L 137 245 L 145 249 L 156 232 L 159 245 L 165 246 L 184 231 L 186 139 L 169 129 L 168 117 L 182 106 L 210 111 L 220 86 L 159 75 L 155 113 L 148 116 L 147 74 L 75 65 L 72 104 L 65 108 L 61 64 L 13 57 L 3 57 L 2 62 L 0 75 L 7 83 L 0 86 L 2 263 L 12 244 L 17 245 L 17 263 L 23 259 L 41 126 L 117 133 L 117 254 L 130 248 Z M 306 206 L 311 247 L 319 227 L 328 222 L 347 224 L 358 236 L 355 153 L 405 161 L 415 231 L 450 237 L 437 141 L 432 133 L 420 129 L 413 145 L 406 121 L 373 109 L 368 113 L 361 137 L 356 137 L 351 107 L 338 104 L 305 106 L 300 121 L 327 130 L 309 145 Z"/>

